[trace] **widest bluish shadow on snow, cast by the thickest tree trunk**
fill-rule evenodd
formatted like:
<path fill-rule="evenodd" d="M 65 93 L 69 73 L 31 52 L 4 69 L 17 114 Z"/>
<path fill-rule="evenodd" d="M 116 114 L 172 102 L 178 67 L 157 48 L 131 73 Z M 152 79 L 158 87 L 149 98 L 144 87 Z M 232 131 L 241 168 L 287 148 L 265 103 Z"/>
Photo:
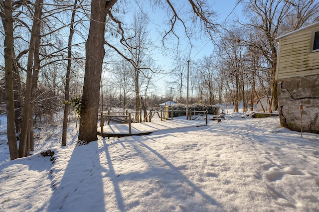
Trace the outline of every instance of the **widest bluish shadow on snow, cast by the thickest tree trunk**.
<path fill-rule="evenodd" d="M 55 173 L 55 169 L 58 169 L 58 158 L 55 163 L 51 176 L 53 194 L 46 211 L 105 211 L 102 182 L 104 169 L 100 164 L 97 142 L 74 148 L 61 180 L 55 176 L 59 174 Z"/>

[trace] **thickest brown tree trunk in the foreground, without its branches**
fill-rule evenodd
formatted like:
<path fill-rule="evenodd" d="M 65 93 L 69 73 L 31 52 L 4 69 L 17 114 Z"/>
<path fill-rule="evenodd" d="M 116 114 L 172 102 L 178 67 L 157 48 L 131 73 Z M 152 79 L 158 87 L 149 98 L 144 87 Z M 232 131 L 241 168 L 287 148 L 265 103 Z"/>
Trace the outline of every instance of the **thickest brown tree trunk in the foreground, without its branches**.
<path fill-rule="evenodd" d="M 117 0 L 92 0 L 91 22 L 86 42 L 86 61 L 80 129 L 78 140 L 89 143 L 97 140 L 97 123 L 102 64 L 105 55 L 104 29 L 106 15 Z"/>

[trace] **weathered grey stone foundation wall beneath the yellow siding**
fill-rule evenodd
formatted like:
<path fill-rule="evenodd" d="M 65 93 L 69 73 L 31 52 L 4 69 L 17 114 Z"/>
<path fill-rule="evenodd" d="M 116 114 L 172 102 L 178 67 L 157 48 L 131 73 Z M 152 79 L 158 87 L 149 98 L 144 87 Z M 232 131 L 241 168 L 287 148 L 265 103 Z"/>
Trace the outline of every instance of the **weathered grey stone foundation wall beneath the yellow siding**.
<path fill-rule="evenodd" d="M 319 133 L 319 76 L 278 82 L 278 111 L 281 126 L 303 132 Z"/>

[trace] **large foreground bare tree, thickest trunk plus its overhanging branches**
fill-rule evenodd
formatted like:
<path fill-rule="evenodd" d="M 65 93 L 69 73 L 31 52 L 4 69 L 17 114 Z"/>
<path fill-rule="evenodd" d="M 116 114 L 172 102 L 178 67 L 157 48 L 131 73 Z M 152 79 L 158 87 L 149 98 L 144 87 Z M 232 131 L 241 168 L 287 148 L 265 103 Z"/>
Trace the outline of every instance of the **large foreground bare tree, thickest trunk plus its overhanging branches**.
<path fill-rule="evenodd" d="M 123 36 L 124 30 L 122 28 L 122 23 L 118 21 L 111 12 L 111 8 L 117 0 L 92 0 L 91 4 L 91 23 L 88 35 L 88 40 L 86 43 L 86 67 L 85 67 L 85 77 L 82 95 L 82 105 L 84 108 L 81 111 L 80 119 L 80 131 L 79 140 L 84 140 L 86 143 L 94 141 L 97 139 L 96 127 L 97 127 L 97 113 L 98 113 L 98 101 L 99 101 L 99 87 L 100 78 L 102 72 L 102 63 L 104 58 L 104 29 L 106 16 L 108 16 L 118 24 L 119 32 L 121 34 L 121 42 L 125 43 L 126 39 Z M 167 0 L 167 5 L 172 11 L 172 18 L 170 21 L 170 30 L 165 33 L 164 38 L 174 33 L 174 26 L 176 22 L 181 22 L 185 28 L 185 33 L 190 36 L 188 28 L 179 17 L 179 14 L 175 10 L 171 1 Z M 212 35 L 213 31 L 216 30 L 216 25 L 212 23 L 211 17 L 215 14 L 210 12 L 207 1 L 193 1 L 189 0 L 191 5 L 192 13 L 194 14 L 192 19 L 194 26 L 197 25 L 199 20 L 203 26 L 205 32 Z M 185 13 L 184 13 L 185 14 Z M 188 13 L 189 14 L 189 13 Z M 127 58 L 124 54 L 112 46 L 110 43 L 106 42 L 108 46 L 112 47 L 121 56 Z M 127 58 L 128 59 L 128 58 Z M 136 64 L 134 61 L 128 59 L 134 68 L 140 67 L 140 64 Z M 139 62 L 139 61 L 138 61 Z"/>

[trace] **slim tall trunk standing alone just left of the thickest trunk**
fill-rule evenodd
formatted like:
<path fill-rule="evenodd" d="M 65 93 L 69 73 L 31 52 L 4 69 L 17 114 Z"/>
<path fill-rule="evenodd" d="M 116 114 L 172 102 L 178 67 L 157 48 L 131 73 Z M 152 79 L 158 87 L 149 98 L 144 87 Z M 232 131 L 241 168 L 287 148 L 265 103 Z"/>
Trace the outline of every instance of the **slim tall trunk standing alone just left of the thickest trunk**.
<path fill-rule="evenodd" d="M 66 68 L 66 79 L 65 79 L 65 104 L 64 104 L 64 113 L 63 113 L 63 127 L 62 127 L 62 144 L 61 146 L 66 146 L 66 134 L 67 134 L 67 126 L 68 126 L 68 115 L 69 115 L 69 99 L 70 99 L 70 73 L 71 73 L 71 46 L 72 46 L 72 38 L 74 34 L 74 17 L 77 8 L 78 0 L 74 1 L 72 16 L 71 16 L 71 24 L 70 24 L 70 33 L 69 33 L 69 41 L 68 41 L 68 65 Z"/>

